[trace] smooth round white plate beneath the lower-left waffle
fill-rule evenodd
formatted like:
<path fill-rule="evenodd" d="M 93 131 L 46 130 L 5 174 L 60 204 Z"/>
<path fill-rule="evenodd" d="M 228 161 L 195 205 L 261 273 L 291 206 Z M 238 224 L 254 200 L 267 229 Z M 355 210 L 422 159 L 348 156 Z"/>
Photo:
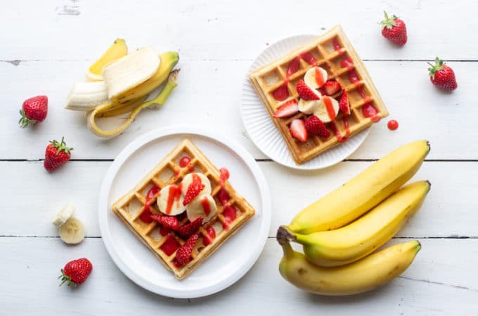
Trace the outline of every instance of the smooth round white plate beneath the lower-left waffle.
<path fill-rule="evenodd" d="M 111 205 L 131 190 L 179 141 L 188 137 L 218 168 L 231 173 L 231 184 L 254 206 L 256 214 L 186 279 L 179 281 L 117 218 Z M 234 140 L 188 126 L 157 129 L 130 143 L 108 169 L 98 204 L 101 236 L 122 272 L 154 293 L 195 298 L 221 291 L 238 281 L 257 261 L 271 224 L 271 198 L 264 174 Z"/>

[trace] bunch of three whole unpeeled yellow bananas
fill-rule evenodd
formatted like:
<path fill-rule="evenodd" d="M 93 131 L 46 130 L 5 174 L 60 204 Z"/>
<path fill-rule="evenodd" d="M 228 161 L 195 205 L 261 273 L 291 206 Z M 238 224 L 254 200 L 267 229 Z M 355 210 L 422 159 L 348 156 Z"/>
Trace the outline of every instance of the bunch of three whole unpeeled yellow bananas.
<path fill-rule="evenodd" d="M 279 271 L 300 289 L 321 295 L 359 294 L 385 284 L 411 265 L 418 241 L 373 251 L 420 209 L 428 181 L 404 185 L 420 168 L 429 144 L 403 145 L 280 226 Z M 357 219 L 358 218 L 358 219 Z M 304 254 L 290 242 L 302 244 Z"/>

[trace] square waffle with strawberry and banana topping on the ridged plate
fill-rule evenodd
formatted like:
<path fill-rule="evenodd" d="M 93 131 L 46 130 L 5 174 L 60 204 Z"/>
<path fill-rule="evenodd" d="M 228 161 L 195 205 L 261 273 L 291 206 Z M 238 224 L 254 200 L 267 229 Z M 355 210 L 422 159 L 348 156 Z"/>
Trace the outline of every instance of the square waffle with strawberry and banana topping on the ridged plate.
<path fill-rule="evenodd" d="M 388 116 L 365 65 L 340 25 L 254 70 L 249 78 L 297 164 L 309 161 Z M 305 83 L 318 100 L 312 100 L 314 96 L 306 100 L 304 89 L 302 96 L 297 92 L 300 80 L 304 81 L 300 86 Z M 347 91 L 349 110 L 338 107 L 343 91 Z M 347 104 L 345 100 L 343 104 Z M 304 135 L 304 122 L 313 115 L 321 119 L 328 132 Z M 330 135 L 326 136 L 327 133 Z"/>

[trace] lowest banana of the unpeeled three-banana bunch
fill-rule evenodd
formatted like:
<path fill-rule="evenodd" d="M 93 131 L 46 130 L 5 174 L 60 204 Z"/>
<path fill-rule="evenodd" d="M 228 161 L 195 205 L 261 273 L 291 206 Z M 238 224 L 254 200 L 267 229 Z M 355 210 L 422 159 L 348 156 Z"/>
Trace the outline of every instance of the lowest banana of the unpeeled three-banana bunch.
<path fill-rule="evenodd" d="M 348 265 L 323 268 L 294 251 L 288 242 L 282 247 L 280 275 L 299 289 L 327 296 L 359 294 L 392 281 L 411 265 L 421 248 L 420 242 L 413 240 L 389 246 Z"/>

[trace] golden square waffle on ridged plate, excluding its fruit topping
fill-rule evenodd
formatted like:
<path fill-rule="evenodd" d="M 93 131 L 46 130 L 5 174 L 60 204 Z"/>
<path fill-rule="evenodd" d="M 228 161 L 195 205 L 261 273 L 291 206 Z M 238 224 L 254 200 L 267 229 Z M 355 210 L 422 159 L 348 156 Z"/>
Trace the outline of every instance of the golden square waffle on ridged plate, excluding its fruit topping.
<path fill-rule="evenodd" d="M 311 55 L 313 59 L 310 58 Z M 296 72 L 288 75 L 288 65 L 291 65 L 296 58 L 299 58 L 299 68 Z M 349 58 L 353 64 L 349 63 L 347 67 L 342 67 L 341 61 L 344 58 Z M 347 91 L 351 114 L 344 116 L 340 113 L 335 119 L 335 126 L 327 124 L 331 133 L 328 138 L 309 135 L 309 139 L 302 143 L 290 135 L 289 125 L 293 119 L 306 119 L 308 115 L 298 112 L 292 117 L 275 119 L 273 114 L 280 105 L 288 100 L 298 100 L 299 96 L 295 88 L 297 81 L 302 79 L 305 72 L 314 65 L 325 69 L 328 72 L 328 79 L 335 79 Z M 348 137 L 366 129 L 374 121 L 388 115 L 365 65 L 340 25 L 332 27 L 325 34 L 296 48 L 288 55 L 254 70 L 249 78 L 297 164 L 307 162 L 325 150 L 347 140 Z M 274 98 L 273 93 L 281 86 L 287 87 L 288 98 L 278 101 Z M 337 93 L 337 96 L 332 97 L 339 96 L 340 93 Z M 376 114 L 370 115 L 373 112 L 370 110 L 375 110 Z M 367 115 L 364 115 L 364 112 Z M 347 131 L 347 123 L 349 131 Z"/>

